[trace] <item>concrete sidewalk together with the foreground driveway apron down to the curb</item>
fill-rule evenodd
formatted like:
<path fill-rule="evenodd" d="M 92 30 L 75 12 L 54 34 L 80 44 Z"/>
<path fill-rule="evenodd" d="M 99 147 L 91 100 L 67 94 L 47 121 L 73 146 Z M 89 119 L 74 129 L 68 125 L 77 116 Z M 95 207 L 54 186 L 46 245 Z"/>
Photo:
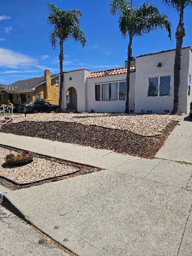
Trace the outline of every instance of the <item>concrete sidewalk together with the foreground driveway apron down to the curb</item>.
<path fill-rule="evenodd" d="M 191 165 L 5 133 L 0 141 L 106 169 L 3 198 L 4 206 L 77 255 L 192 254 Z"/>

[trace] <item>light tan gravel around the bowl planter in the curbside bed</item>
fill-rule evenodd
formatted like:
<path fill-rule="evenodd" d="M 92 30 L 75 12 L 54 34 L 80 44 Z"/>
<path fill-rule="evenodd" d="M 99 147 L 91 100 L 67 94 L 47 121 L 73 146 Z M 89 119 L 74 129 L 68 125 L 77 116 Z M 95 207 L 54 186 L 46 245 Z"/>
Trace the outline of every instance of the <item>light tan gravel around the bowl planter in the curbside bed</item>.
<path fill-rule="evenodd" d="M 15 154 L 18 152 L 12 151 L 12 153 Z M 63 176 L 79 170 L 79 168 L 74 166 L 56 163 L 38 157 L 34 157 L 31 163 L 11 166 L 5 163 L 4 157 L 7 154 L 10 154 L 10 150 L 0 147 L 0 176 L 18 184 Z"/>

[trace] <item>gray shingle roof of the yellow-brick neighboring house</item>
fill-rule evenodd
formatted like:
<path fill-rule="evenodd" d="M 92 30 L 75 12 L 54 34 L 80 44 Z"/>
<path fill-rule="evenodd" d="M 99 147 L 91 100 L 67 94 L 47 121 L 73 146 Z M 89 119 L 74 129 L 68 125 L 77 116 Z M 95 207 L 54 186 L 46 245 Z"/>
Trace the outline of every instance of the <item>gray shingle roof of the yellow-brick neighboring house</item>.
<path fill-rule="evenodd" d="M 58 76 L 59 74 L 51 75 L 51 78 Z M 32 90 L 36 88 L 41 83 L 45 83 L 44 76 L 39 76 L 31 79 L 20 80 L 10 85 L 1 85 L 6 91 L 22 91 L 22 90 Z"/>

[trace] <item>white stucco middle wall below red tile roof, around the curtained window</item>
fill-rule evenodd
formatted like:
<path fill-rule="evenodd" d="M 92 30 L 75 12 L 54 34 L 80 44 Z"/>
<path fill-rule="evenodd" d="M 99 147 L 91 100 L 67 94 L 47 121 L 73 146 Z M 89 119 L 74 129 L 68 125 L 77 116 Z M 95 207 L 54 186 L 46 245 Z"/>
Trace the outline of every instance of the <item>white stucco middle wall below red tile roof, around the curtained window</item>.
<path fill-rule="evenodd" d="M 102 83 L 126 81 L 126 73 L 109 76 L 99 76 L 95 78 L 88 78 L 86 80 L 87 92 L 87 111 L 93 109 L 95 112 L 115 112 L 124 113 L 125 100 L 117 101 L 96 101 L 95 100 L 95 85 Z M 134 110 L 134 85 L 135 85 L 135 72 L 130 74 L 130 91 L 129 91 L 129 110 Z"/>

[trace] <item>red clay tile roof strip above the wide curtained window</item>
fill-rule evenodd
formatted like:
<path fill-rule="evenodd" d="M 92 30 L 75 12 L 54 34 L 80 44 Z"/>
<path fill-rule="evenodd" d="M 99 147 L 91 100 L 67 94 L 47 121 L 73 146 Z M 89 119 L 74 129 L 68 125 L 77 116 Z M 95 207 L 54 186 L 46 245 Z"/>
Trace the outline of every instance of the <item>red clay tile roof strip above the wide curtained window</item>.
<path fill-rule="evenodd" d="M 135 71 L 135 65 L 131 66 L 130 71 L 134 72 Z M 110 75 L 118 75 L 118 74 L 124 74 L 127 73 L 127 68 L 114 68 L 114 69 L 109 69 L 109 70 L 104 70 L 104 71 L 97 71 L 97 72 L 91 72 L 88 75 L 88 78 L 93 78 L 93 77 L 98 77 L 98 76 L 110 76 Z"/>

